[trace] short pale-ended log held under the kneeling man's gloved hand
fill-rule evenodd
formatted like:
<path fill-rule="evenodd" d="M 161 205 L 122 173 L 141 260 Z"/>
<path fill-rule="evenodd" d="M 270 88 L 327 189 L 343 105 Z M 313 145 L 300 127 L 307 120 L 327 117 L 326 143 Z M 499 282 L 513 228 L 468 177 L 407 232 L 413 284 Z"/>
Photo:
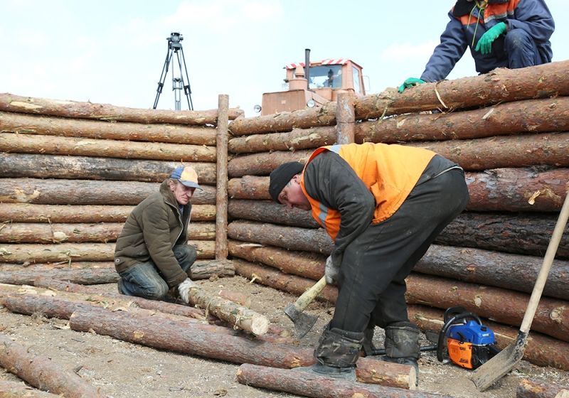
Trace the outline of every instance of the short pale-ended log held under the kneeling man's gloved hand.
<path fill-rule="evenodd" d="M 191 305 L 204 308 L 206 312 L 228 322 L 235 329 L 239 328 L 254 335 L 264 335 L 269 330 L 270 321 L 266 316 L 225 298 L 212 296 L 199 287 L 190 289 L 189 298 Z"/>

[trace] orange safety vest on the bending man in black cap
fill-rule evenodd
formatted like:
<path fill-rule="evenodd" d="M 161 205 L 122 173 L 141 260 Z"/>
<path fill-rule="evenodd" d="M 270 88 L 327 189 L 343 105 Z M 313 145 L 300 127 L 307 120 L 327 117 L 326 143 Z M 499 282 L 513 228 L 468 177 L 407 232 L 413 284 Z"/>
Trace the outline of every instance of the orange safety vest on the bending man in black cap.
<path fill-rule="evenodd" d="M 345 144 L 321 146 L 308 159 L 308 164 L 324 151 L 339 154 L 376 198 L 376 211 L 373 224 L 377 224 L 398 210 L 409 195 L 435 152 L 427 149 L 395 144 Z M 340 212 L 327 208 L 323 203 L 311 198 L 304 187 L 304 171 L 300 181 L 302 192 L 312 206 L 312 217 L 326 229 L 332 240 L 340 230 Z"/>

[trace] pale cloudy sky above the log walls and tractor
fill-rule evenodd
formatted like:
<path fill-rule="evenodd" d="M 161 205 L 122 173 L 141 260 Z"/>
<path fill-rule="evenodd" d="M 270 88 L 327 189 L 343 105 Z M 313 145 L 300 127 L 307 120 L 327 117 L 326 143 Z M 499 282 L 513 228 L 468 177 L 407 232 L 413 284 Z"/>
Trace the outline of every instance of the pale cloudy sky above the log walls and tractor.
<path fill-rule="evenodd" d="M 524 0 L 521 0 L 524 1 Z M 568 0 L 546 0 L 553 60 L 569 59 Z M 0 92 L 151 108 L 171 32 L 179 32 L 194 109 L 218 95 L 255 116 L 282 90 L 283 66 L 350 58 L 368 93 L 419 77 L 453 0 L 0 0 Z M 177 65 L 171 65 L 177 68 Z M 468 52 L 449 78 L 476 75 Z M 183 97 L 184 101 L 185 98 Z M 182 102 L 182 109 L 188 109 Z M 159 99 L 174 109 L 171 72 Z"/>

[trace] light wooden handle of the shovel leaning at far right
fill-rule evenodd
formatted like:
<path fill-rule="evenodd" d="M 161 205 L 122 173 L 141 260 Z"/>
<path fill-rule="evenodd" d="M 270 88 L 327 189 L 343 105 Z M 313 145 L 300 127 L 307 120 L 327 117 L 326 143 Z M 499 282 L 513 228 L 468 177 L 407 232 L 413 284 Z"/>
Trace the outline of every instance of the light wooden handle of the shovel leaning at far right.
<path fill-rule="evenodd" d="M 555 253 L 559 247 L 559 242 L 561 237 L 563 237 L 563 231 L 565 230 L 565 225 L 567 225 L 567 220 L 569 218 L 569 193 L 565 193 L 565 201 L 563 202 L 563 207 L 559 213 L 557 222 L 555 223 L 555 228 L 553 229 L 553 235 L 551 235 L 551 240 L 547 246 L 547 251 L 545 257 L 543 257 L 543 264 L 539 270 L 538 278 L 536 279 L 536 284 L 533 286 L 533 291 L 531 292 L 531 297 L 529 298 L 528 307 L 526 308 L 526 313 L 523 315 L 523 321 L 521 321 L 520 331 L 522 333 L 528 333 L 533 321 L 533 316 L 536 315 L 536 310 L 538 308 L 539 299 L 541 298 L 541 293 L 543 292 L 543 286 L 546 285 L 547 277 L 549 275 L 549 270 L 551 269 L 551 264 L 553 264 L 553 259 L 555 258 Z"/>

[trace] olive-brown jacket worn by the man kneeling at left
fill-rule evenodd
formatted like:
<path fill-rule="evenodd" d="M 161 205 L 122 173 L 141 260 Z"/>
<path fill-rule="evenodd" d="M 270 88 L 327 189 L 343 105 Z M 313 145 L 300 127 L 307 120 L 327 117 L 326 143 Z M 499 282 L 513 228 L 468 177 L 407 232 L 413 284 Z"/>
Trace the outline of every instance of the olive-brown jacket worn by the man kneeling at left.
<path fill-rule="evenodd" d="M 179 205 L 167 181 L 160 191 L 144 199 L 132 210 L 115 245 L 115 268 L 124 271 L 141 262 L 152 260 L 170 287 L 183 282 L 188 275 L 174 257 L 175 244 L 186 244 L 191 203 Z"/>

